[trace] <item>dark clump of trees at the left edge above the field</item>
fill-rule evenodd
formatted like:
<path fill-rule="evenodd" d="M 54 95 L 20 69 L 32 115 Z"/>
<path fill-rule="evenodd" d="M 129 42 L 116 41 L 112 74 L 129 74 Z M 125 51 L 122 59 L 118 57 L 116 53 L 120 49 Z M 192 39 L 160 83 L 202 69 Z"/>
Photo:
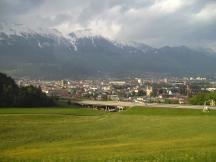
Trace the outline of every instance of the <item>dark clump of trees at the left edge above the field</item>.
<path fill-rule="evenodd" d="M 41 88 L 18 87 L 11 77 L 0 73 L 0 107 L 40 107 L 54 104 L 54 100 L 46 96 Z"/>

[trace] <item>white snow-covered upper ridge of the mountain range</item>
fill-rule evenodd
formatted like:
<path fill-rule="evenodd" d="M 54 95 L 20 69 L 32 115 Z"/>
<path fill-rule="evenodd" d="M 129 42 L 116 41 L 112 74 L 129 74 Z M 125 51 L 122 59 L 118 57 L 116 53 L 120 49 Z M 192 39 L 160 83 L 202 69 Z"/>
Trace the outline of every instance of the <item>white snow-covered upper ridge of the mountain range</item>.
<path fill-rule="evenodd" d="M 56 29 L 43 29 L 43 28 L 28 28 L 21 24 L 0 24 L 0 40 L 2 41 L 14 41 L 14 38 L 20 39 L 29 39 L 32 38 L 37 41 L 38 47 L 42 48 L 43 45 L 51 45 L 56 43 L 56 45 L 65 45 L 68 48 L 78 51 L 79 43 L 83 43 L 88 41 L 92 46 L 96 47 L 98 40 L 104 40 L 111 43 L 116 48 L 138 48 L 140 50 L 148 50 L 153 49 L 150 46 L 144 44 L 138 44 L 135 42 L 123 42 L 123 41 L 113 41 L 107 38 L 104 38 L 100 35 L 94 34 L 90 29 L 86 30 L 77 30 L 75 32 L 69 33 L 67 35 L 63 35 Z M 44 37 L 45 40 L 41 40 L 41 37 Z M 52 40 L 48 42 L 47 40 Z M 2 42 L 1 42 L 2 43 Z"/>

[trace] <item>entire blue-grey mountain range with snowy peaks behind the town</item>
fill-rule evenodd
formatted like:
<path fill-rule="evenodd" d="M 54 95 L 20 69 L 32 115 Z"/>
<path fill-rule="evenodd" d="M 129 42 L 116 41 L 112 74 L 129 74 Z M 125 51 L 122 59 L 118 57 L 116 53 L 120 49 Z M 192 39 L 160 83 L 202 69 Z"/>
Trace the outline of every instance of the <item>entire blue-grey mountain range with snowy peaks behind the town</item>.
<path fill-rule="evenodd" d="M 216 54 L 186 46 L 153 48 L 119 42 L 89 30 L 63 35 L 0 25 L 0 71 L 41 79 L 127 76 L 152 73 L 215 73 Z"/>

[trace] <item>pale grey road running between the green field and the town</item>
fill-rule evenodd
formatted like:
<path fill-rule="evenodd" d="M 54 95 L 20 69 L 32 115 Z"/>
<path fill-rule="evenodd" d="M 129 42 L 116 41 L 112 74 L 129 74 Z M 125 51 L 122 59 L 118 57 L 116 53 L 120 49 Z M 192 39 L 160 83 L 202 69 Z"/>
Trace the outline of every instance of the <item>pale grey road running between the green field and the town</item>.
<path fill-rule="evenodd" d="M 121 101 L 78 101 L 76 102 L 80 105 L 92 105 L 92 106 L 123 106 L 123 107 L 134 107 L 134 106 L 142 106 L 142 107 L 161 107 L 161 108 L 178 108 L 178 109 L 203 109 L 203 105 L 180 105 L 180 104 L 158 104 L 158 103 L 136 103 L 136 102 L 121 102 Z M 209 107 L 210 109 L 215 109 L 216 107 Z"/>

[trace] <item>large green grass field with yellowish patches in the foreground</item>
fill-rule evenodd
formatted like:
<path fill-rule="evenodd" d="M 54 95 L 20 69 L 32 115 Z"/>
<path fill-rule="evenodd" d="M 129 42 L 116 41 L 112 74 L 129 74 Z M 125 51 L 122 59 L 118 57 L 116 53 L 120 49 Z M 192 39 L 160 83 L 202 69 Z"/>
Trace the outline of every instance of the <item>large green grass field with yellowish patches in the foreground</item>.
<path fill-rule="evenodd" d="M 0 109 L 0 161 L 214 162 L 216 111 Z"/>

